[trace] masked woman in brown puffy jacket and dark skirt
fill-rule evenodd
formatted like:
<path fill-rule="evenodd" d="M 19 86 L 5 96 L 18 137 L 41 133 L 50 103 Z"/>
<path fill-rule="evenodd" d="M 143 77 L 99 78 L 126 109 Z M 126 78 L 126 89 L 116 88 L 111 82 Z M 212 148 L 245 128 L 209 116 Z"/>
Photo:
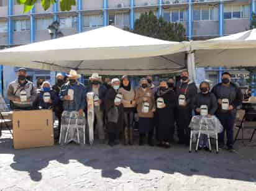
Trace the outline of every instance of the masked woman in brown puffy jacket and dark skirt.
<path fill-rule="evenodd" d="M 153 115 L 155 112 L 155 98 L 153 90 L 150 89 L 147 79 L 140 80 L 140 87 L 136 91 L 137 112 L 139 115 L 139 145 L 145 144 L 145 136 L 148 134 L 148 144 L 153 143 Z"/>

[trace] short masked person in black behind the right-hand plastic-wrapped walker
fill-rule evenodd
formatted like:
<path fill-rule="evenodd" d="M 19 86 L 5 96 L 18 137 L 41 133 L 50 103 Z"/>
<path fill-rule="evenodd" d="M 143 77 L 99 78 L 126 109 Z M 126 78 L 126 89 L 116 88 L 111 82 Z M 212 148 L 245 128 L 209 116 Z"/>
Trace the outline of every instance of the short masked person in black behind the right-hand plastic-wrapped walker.
<path fill-rule="evenodd" d="M 206 105 L 208 107 L 208 117 L 214 115 L 217 110 L 217 99 L 215 95 L 209 92 L 210 86 L 208 82 L 201 82 L 199 86 L 200 92 L 194 97 L 193 105 L 194 112 L 196 115 L 200 115 L 201 105 Z M 209 143 L 207 135 L 201 135 L 199 140 L 199 149 L 209 150 Z"/>

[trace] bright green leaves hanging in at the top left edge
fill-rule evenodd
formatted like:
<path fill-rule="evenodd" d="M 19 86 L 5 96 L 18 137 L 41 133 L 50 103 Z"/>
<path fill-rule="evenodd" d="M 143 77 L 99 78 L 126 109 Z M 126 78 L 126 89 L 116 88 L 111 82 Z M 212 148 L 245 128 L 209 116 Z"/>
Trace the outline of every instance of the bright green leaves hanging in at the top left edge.
<path fill-rule="evenodd" d="M 24 13 L 29 12 L 35 5 L 35 2 L 41 1 L 43 9 L 46 11 L 51 4 L 55 4 L 57 0 L 15 0 L 18 4 L 24 5 Z M 76 5 L 76 0 L 60 0 L 60 9 L 62 11 L 70 11 L 71 6 Z"/>

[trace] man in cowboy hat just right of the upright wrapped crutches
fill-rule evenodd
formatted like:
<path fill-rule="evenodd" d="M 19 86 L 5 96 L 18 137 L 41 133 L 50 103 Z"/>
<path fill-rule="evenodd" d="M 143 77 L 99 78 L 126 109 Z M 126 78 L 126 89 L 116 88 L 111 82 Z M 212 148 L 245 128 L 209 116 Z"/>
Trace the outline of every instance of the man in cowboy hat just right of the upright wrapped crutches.
<path fill-rule="evenodd" d="M 103 125 L 103 111 L 104 111 L 104 97 L 106 94 L 106 87 L 101 85 L 101 76 L 98 73 L 93 73 L 89 78 L 89 86 L 86 89 L 88 92 L 94 92 L 94 115 L 96 117 L 96 129 L 98 130 L 99 140 L 102 142 L 105 138 Z M 86 102 L 87 103 L 87 102 Z"/>

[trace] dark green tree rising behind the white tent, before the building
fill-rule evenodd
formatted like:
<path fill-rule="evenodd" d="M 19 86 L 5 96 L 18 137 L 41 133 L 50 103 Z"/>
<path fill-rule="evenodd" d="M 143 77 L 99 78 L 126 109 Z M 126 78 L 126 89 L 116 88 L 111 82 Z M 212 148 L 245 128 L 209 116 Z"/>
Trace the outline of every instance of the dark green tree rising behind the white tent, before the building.
<path fill-rule="evenodd" d="M 134 30 L 131 31 L 139 35 L 158 38 L 162 40 L 178 41 L 185 40 L 185 28 L 180 23 L 170 23 L 160 17 L 145 12 L 140 15 L 140 18 L 135 20 Z"/>

